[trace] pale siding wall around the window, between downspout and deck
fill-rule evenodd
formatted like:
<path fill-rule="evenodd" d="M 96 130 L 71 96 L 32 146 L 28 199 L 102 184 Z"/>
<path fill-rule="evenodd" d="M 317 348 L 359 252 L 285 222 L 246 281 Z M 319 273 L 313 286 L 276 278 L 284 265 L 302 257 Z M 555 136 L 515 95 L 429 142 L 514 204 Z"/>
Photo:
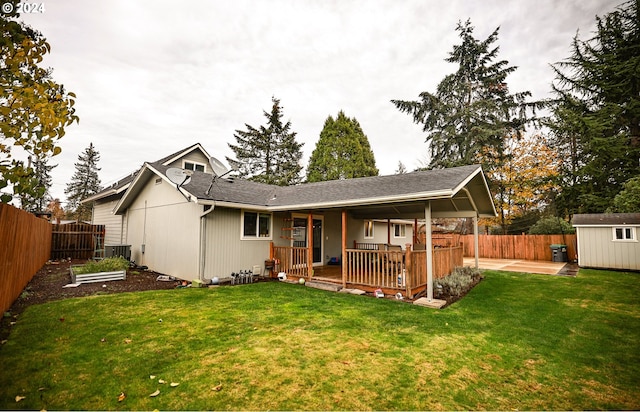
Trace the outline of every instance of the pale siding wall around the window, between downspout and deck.
<path fill-rule="evenodd" d="M 252 270 L 260 266 L 264 270 L 264 261 L 269 259 L 271 239 L 241 239 L 241 217 L 239 209 L 217 207 L 206 218 L 206 263 L 204 278 L 229 277 L 232 272 Z M 272 238 L 279 238 L 282 221 L 276 214 L 272 217 Z"/>

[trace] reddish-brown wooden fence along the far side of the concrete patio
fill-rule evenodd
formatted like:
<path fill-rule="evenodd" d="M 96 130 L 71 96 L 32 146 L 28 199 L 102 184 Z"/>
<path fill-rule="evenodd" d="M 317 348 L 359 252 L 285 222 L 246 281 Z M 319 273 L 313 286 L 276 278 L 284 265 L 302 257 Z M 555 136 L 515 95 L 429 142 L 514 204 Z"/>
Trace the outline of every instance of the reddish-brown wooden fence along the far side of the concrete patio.
<path fill-rule="evenodd" d="M 464 256 L 474 256 L 473 235 L 452 235 L 462 243 Z M 567 257 L 576 260 L 576 235 L 480 235 L 478 257 L 491 259 L 553 260 L 551 245 L 567 246 Z"/>

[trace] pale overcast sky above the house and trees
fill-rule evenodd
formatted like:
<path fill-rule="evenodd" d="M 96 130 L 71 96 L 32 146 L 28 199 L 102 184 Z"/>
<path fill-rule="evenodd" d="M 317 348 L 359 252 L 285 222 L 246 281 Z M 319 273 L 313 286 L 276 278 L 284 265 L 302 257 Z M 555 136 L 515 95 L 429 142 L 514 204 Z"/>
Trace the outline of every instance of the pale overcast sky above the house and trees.
<path fill-rule="evenodd" d="M 35 0 L 41 2 L 41 0 Z M 51 193 L 64 188 L 90 142 L 103 185 L 193 143 L 221 160 L 237 129 L 266 123 L 281 100 L 304 143 L 343 110 L 369 138 L 381 174 L 427 159 L 425 135 L 391 99 L 434 92 L 455 66 L 444 59 L 471 19 L 484 40 L 500 26 L 499 58 L 518 66 L 511 92 L 549 96 L 550 63 L 570 55 L 576 31 L 622 0 L 43 0 L 22 15 L 51 45 L 44 64 L 76 93 L 80 123 L 60 140 Z"/>

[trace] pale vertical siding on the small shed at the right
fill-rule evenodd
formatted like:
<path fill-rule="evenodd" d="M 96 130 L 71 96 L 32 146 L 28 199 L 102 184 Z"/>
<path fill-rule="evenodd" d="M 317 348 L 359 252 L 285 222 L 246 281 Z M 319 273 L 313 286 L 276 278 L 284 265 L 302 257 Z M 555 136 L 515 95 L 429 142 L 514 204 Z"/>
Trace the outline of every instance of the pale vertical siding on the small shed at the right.
<path fill-rule="evenodd" d="M 640 270 L 640 227 L 635 241 L 614 241 L 613 229 L 578 227 L 578 264 L 602 269 Z"/>

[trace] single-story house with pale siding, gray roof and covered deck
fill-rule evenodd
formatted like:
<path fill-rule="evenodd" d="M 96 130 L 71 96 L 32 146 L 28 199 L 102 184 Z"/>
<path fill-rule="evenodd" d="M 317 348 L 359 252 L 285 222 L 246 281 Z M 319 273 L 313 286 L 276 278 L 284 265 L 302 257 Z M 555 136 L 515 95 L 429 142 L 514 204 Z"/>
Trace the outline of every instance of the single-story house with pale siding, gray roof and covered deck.
<path fill-rule="evenodd" d="M 477 227 L 479 217 L 496 215 L 478 165 L 281 187 L 218 177 L 210 158 L 195 144 L 144 163 L 85 199 L 93 202 L 93 223 L 106 225 L 105 244 L 131 245 L 131 259 L 138 264 L 204 281 L 240 270 L 263 272 L 270 260 L 281 264 L 278 270 L 310 278 L 314 268 L 338 261 L 346 285 L 354 283 L 347 278 L 351 258 L 358 260 L 360 272 L 368 265 L 368 276 L 380 276 L 382 269 L 371 268 L 390 261 L 379 250 L 367 256 L 350 252 L 352 245 L 400 245 L 404 254 L 407 245 L 412 249 L 418 219 L 471 217 Z M 167 175 L 171 168 L 192 171 L 189 181 L 173 183 Z M 423 248 L 432 250 L 426 227 Z M 426 287 L 433 258 L 423 253 L 420 260 L 417 253 L 406 258 L 406 265 L 403 255 L 402 267 L 409 267 L 408 260 L 422 262 Z"/>

